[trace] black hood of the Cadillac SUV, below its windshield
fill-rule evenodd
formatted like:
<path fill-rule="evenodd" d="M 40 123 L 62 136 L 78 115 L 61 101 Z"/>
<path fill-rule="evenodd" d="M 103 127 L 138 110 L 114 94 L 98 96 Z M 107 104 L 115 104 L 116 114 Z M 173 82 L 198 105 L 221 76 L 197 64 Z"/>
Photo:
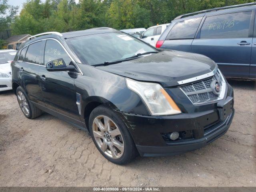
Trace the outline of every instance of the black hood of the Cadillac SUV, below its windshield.
<path fill-rule="evenodd" d="M 178 81 L 212 72 L 216 63 L 200 54 L 164 50 L 157 54 L 96 68 L 134 80 L 176 86 Z"/>

